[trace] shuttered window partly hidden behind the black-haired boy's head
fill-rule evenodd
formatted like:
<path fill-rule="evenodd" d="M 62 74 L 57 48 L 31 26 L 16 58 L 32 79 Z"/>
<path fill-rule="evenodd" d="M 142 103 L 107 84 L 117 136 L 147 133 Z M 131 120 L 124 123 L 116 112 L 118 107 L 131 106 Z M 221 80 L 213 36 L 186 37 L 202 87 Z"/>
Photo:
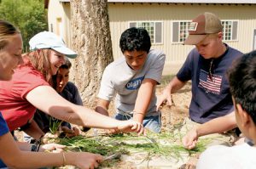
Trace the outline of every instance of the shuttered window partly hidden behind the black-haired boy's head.
<path fill-rule="evenodd" d="M 148 31 L 152 43 L 162 43 L 162 22 L 130 22 L 129 26 L 143 27 Z"/>

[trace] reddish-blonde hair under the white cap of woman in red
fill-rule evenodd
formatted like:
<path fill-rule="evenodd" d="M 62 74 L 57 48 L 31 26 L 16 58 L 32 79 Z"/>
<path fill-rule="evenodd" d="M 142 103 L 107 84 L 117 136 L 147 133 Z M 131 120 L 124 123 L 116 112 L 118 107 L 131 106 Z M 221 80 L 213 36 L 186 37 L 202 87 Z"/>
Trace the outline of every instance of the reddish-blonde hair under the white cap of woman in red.
<path fill-rule="evenodd" d="M 50 67 L 51 49 L 38 49 L 30 53 L 23 54 L 24 65 L 32 66 L 41 72 L 46 82 L 52 85 L 51 67 Z"/>

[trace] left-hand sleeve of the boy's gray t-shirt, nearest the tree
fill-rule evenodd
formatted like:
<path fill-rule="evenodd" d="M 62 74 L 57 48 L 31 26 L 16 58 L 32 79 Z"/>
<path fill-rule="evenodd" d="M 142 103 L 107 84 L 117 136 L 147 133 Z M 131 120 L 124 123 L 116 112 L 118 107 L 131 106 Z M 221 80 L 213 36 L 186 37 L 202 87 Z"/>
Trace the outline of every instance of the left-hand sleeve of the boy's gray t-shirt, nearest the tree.
<path fill-rule="evenodd" d="M 113 99 L 114 95 L 114 88 L 113 88 L 113 82 L 111 82 L 111 71 L 109 69 L 109 66 L 104 70 L 102 75 L 102 82 L 100 91 L 98 93 L 99 99 L 104 99 L 110 101 Z"/>

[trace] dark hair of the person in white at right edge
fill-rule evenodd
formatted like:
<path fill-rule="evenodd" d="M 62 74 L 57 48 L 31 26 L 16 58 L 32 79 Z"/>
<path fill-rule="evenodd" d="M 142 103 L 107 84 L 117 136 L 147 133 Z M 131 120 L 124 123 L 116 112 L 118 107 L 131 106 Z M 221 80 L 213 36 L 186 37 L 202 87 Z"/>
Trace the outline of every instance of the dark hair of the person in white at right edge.
<path fill-rule="evenodd" d="M 236 59 L 228 71 L 230 92 L 256 124 L 256 51 Z M 235 105 L 236 106 L 236 105 Z"/>

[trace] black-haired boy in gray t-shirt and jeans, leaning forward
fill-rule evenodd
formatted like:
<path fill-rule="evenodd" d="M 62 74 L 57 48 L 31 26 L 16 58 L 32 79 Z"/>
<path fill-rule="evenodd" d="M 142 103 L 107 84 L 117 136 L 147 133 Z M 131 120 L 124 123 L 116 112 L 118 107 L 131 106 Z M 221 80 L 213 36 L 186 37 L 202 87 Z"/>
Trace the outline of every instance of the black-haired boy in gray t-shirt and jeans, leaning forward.
<path fill-rule="evenodd" d="M 155 86 L 160 84 L 166 55 L 150 50 L 150 37 L 143 28 L 124 31 L 119 47 L 125 57 L 113 61 L 104 70 L 96 111 L 108 115 L 108 106 L 116 94 L 116 119 L 133 118 L 149 130 L 160 132 Z"/>

